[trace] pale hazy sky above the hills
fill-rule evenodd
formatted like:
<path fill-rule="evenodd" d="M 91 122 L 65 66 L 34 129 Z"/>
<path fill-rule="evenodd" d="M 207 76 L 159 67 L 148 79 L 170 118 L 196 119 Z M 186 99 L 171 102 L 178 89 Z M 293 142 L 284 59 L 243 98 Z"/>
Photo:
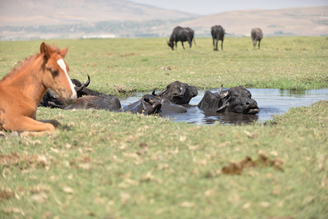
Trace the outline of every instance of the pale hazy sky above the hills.
<path fill-rule="evenodd" d="M 202 15 L 231 10 L 280 9 L 294 7 L 327 6 L 328 0 L 129 0 L 136 3 L 153 5 L 164 9 L 181 10 Z M 328 11 L 327 11 L 328 13 Z"/>

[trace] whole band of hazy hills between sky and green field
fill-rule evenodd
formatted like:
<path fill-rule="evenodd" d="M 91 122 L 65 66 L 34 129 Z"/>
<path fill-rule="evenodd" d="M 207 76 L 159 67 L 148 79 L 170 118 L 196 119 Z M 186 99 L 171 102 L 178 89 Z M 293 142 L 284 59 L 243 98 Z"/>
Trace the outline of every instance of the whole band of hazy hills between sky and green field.
<path fill-rule="evenodd" d="M 328 6 L 239 10 L 200 16 L 127 0 L 0 1 L 0 40 L 97 37 L 168 37 L 175 26 L 210 36 L 221 25 L 229 36 L 328 35 Z"/>

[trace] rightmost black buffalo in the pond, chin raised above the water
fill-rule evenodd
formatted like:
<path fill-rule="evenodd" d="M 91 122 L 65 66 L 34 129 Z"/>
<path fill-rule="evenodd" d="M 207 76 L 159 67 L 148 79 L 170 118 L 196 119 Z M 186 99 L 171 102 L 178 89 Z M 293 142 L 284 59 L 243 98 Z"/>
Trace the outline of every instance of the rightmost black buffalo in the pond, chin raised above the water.
<path fill-rule="evenodd" d="M 235 112 L 254 115 L 260 110 L 252 99 L 251 92 L 243 87 L 233 87 L 218 93 L 207 90 L 203 99 L 198 103 L 198 108 L 203 110 L 215 110 L 216 112 Z"/>

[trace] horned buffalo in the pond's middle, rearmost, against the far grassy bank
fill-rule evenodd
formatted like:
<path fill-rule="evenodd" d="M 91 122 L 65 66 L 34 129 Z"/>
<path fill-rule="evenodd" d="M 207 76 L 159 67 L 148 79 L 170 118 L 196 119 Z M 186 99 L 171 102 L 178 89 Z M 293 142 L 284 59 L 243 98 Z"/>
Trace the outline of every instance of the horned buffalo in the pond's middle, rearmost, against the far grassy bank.
<path fill-rule="evenodd" d="M 188 104 L 191 98 L 197 96 L 198 90 L 195 86 L 190 86 L 186 83 L 180 81 L 174 81 L 158 94 L 153 95 L 161 98 L 168 98 L 171 102 L 175 104 Z"/>

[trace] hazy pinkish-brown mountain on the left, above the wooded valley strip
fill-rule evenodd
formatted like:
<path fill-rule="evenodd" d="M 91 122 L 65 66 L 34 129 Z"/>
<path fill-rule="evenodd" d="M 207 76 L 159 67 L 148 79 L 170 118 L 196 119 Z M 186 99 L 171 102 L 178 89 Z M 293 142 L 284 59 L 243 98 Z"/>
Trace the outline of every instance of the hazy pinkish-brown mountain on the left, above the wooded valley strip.
<path fill-rule="evenodd" d="M 197 16 L 199 15 L 127 0 L 0 1 L 0 26 L 66 25 L 113 20 L 195 18 Z"/>

